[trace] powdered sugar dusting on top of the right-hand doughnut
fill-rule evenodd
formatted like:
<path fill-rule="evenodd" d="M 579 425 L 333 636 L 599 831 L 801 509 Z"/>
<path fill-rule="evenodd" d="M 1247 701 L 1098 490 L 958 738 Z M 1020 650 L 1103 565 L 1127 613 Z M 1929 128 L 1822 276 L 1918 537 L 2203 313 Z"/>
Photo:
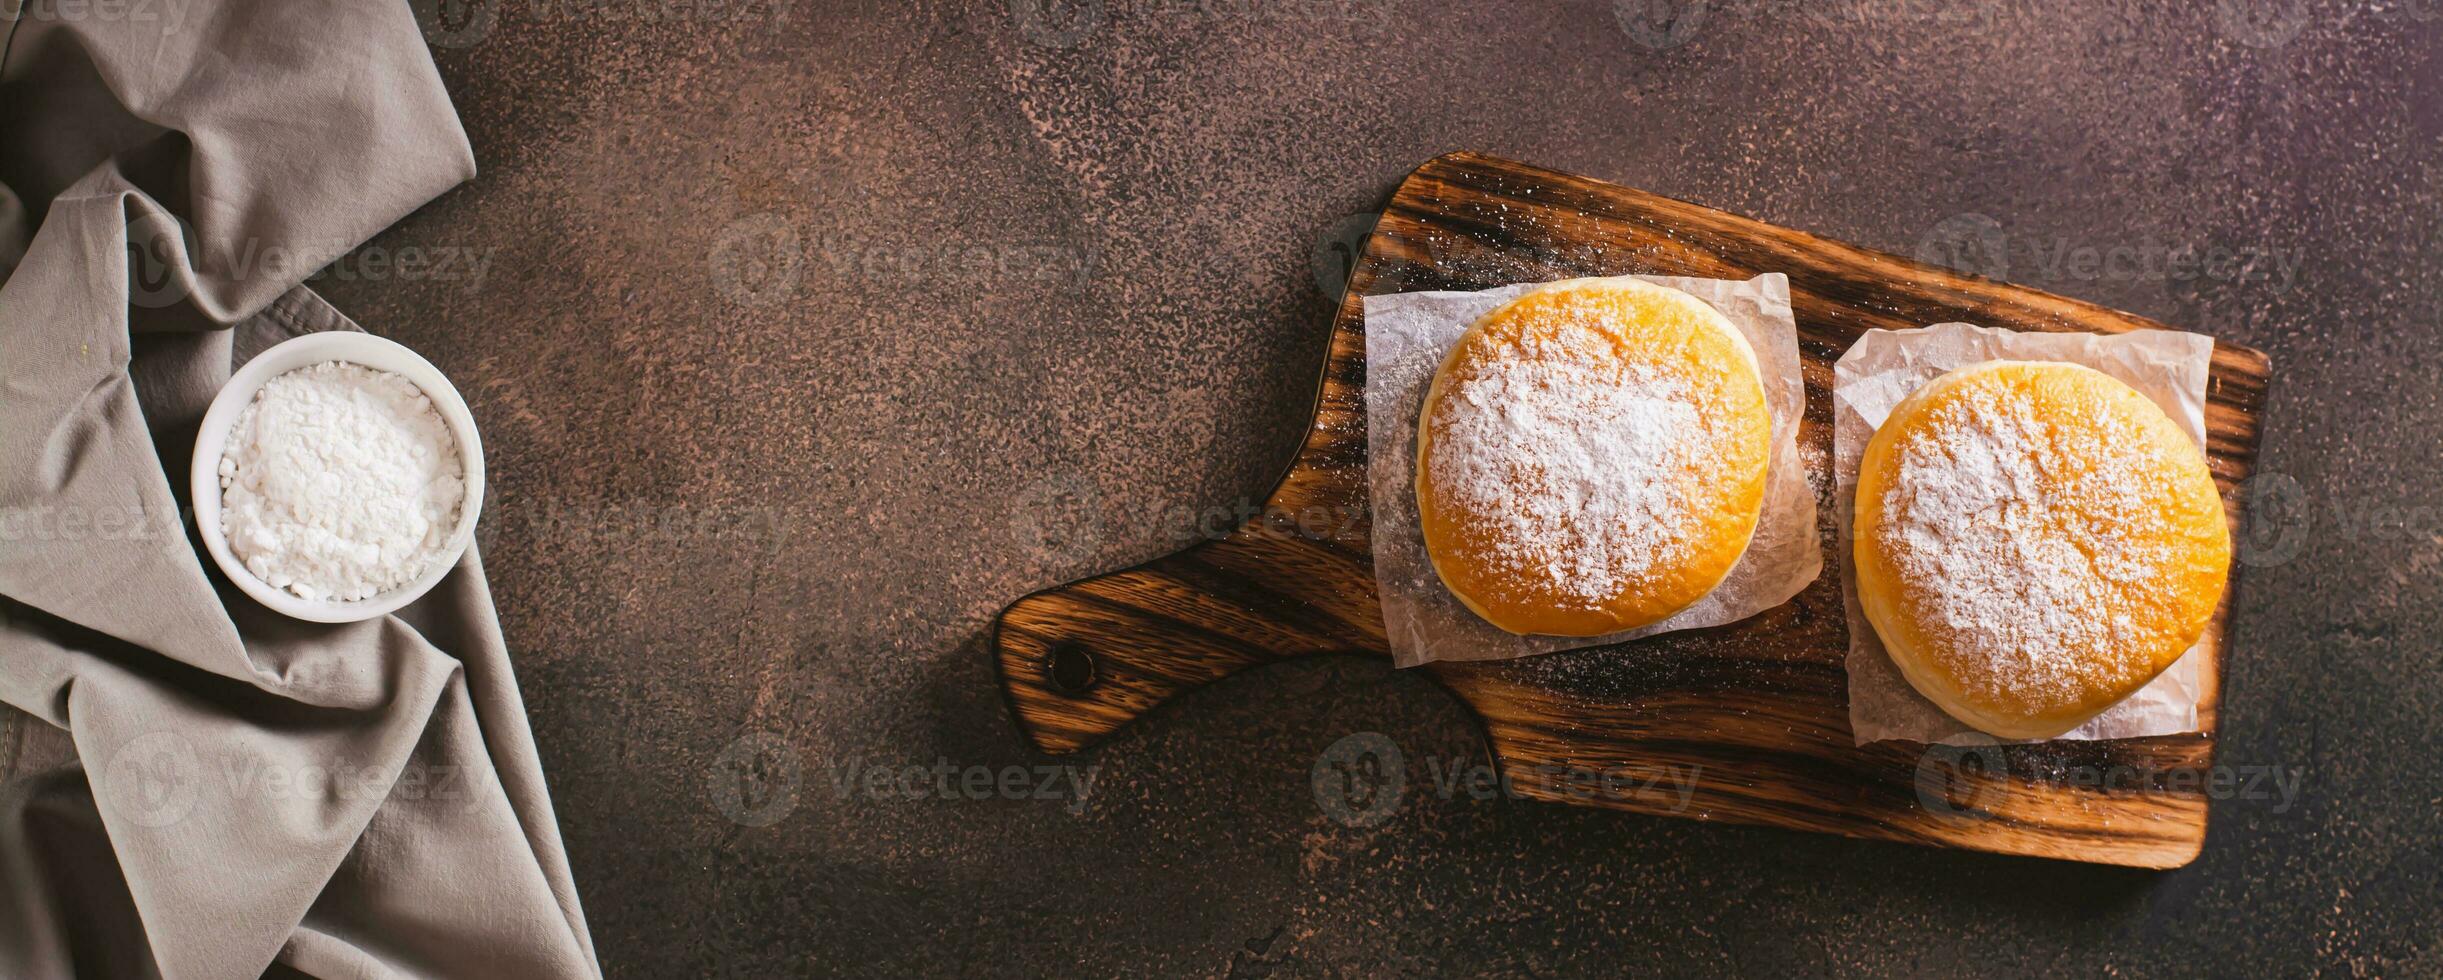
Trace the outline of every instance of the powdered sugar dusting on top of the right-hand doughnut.
<path fill-rule="evenodd" d="M 2057 433 L 2028 398 L 1969 389 L 1898 445 L 1884 486 L 1888 555 L 1913 618 L 1974 687 L 2062 694 L 2099 670 L 2086 650 L 2133 631 L 2123 589 L 2172 562 L 2138 525 L 2143 433 Z"/>

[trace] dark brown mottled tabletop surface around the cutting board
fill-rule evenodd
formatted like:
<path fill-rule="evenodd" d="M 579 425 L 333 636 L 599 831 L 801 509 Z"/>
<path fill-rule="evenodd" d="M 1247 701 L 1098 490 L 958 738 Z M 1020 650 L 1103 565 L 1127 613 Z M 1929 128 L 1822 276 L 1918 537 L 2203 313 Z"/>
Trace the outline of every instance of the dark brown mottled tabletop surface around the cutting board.
<path fill-rule="evenodd" d="M 1603 2 L 1107 0 L 1072 46 L 999 2 L 486 5 L 437 51 L 484 176 L 374 244 L 489 274 L 320 288 L 484 423 L 486 569 L 611 975 L 2433 973 L 2443 27 L 1796 7 L 1717 2 L 1651 49 Z M 989 616 L 1268 489 L 1319 369 L 1317 254 L 1456 147 L 1903 254 L 1998 230 L 2006 279 L 2267 349 L 2262 464 L 2301 506 L 2235 596 L 2218 760 L 2296 767 L 2299 797 L 2218 799 L 2169 875 L 1441 799 L 1424 762 L 1483 760 L 1473 721 L 1353 657 L 1156 714 L 1087 755 L 1080 814 L 836 794 L 845 760 L 1038 762 Z M 750 215 L 799 235 L 801 298 L 713 283 Z M 1009 271 L 821 257 L 950 242 Z M 762 828 L 708 794 L 755 731 L 806 767 Z M 1309 789 L 1358 731 L 1412 770 L 1366 828 Z"/>

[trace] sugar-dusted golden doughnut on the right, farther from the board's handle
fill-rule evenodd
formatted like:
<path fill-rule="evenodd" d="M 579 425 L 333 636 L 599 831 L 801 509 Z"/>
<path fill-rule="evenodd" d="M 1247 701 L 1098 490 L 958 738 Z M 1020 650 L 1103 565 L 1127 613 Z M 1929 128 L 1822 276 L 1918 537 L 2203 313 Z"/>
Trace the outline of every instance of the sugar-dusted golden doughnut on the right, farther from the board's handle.
<path fill-rule="evenodd" d="M 2113 376 L 1986 362 L 1901 401 L 1857 477 L 1857 589 L 1908 684 L 2050 738 L 2179 660 L 2223 601 L 2206 457 Z"/>

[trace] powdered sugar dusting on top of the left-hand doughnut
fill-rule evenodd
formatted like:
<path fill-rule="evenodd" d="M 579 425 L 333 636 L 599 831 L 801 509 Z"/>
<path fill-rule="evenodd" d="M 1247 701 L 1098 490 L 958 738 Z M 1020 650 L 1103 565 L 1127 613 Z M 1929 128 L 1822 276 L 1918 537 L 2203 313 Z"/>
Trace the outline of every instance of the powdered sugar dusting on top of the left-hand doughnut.
<path fill-rule="evenodd" d="M 1676 474 L 1710 428 L 1688 386 L 1651 364 L 1529 337 L 1444 393 L 1432 481 L 1490 523 L 1488 560 L 1600 609 L 1656 565 L 1683 562 L 1695 523 Z"/>

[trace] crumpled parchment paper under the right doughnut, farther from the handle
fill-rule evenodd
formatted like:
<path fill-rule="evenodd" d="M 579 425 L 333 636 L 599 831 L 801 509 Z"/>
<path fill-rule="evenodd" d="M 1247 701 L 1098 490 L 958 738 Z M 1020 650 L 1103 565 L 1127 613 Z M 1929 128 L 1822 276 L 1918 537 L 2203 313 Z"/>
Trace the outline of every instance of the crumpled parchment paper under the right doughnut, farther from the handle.
<path fill-rule="evenodd" d="M 2125 381 L 2162 406 L 2199 447 L 2206 445 L 2206 374 L 2213 364 L 2213 337 L 2179 330 L 2138 330 L 2123 335 L 2094 332 L 2018 332 L 1969 323 L 1937 323 L 1923 330 L 1866 330 L 1832 364 L 1832 474 L 1840 540 L 1832 550 L 1842 572 L 1842 601 L 1849 609 L 1849 731 L 1857 743 L 1886 738 L 1920 743 L 1991 743 L 1991 736 L 1942 714 L 1935 701 L 1908 687 L 1901 667 L 1884 653 L 1857 601 L 1857 562 L 1849 560 L 1849 521 L 1854 513 L 1857 467 L 1866 440 L 1884 425 L 1891 408 L 1952 369 L 1993 362 L 2069 362 L 2086 364 Z M 2204 452 L 2204 450 L 2201 450 Z M 2057 738 L 2140 738 L 2196 731 L 2196 704 L 2213 684 L 2213 645 L 2206 635 L 2147 687 L 2121 699 L 2084 726 Z"/>

